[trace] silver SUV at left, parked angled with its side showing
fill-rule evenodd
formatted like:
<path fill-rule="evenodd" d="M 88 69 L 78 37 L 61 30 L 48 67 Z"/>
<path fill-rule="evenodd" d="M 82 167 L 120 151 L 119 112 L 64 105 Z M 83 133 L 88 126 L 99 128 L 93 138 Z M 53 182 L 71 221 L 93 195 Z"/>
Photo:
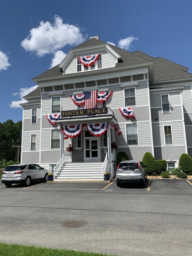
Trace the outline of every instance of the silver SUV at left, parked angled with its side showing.
<path fill-rule="evenodd" d="M 6 187 L 12 184 L 25 184 L 29 186 L 32 181 L 43 180 L 47 182 L 49 171 L 35 163 L 9 165 L 2 172 L 1 182 Z"/>

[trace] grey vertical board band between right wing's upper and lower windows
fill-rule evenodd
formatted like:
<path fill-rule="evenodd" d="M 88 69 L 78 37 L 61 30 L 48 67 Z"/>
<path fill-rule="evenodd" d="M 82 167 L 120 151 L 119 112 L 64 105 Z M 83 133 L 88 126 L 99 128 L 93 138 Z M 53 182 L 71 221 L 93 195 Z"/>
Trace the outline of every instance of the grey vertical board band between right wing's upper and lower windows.
<path fill-rule="evenodd" d="M 171 113 L 162 113 L 161 108 L 151 109 L 151 120 L 152 122 L 182 120 L 181 111 L 181 107 L 171 107 Z"/>

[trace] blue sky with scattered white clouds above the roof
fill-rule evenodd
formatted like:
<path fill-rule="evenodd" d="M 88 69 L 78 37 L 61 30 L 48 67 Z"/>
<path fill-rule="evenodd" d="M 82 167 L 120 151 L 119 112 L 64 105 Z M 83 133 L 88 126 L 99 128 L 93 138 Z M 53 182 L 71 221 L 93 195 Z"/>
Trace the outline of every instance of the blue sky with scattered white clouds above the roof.
<path fill-rule="evenodd" d="M 31 78 L 91 36 L 169 59 L 192 73 L 191 10 L 190 0 L 2 0 L 0 122 L 22 120 L 19 102 L 35 88 Z"/>

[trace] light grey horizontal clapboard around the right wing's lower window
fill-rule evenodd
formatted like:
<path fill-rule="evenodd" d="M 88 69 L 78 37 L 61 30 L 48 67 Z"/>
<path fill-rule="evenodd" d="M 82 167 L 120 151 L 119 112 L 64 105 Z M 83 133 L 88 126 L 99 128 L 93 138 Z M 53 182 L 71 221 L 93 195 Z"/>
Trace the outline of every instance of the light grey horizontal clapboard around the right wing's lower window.
<path fill-rule="evenodd" d="M 172 125 L 173 145 L 184 145 L 185 144 L 183 122 L 152 123 L 154 146 L 156 146 L 156 147 L 157 146 L 165 146 L 163 125 L 165 125 L 165 126 Z"/>

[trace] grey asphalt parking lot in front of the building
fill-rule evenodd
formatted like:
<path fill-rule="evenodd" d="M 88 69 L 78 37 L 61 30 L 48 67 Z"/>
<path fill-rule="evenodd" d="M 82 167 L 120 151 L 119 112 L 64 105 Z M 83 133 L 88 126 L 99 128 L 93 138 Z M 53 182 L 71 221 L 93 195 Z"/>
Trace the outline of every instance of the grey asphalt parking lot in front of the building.
<path fill-rule="evenodd" d="M 192 180 L 0 183 L 0 241 L 116 255 L 191 255 Z"/>

